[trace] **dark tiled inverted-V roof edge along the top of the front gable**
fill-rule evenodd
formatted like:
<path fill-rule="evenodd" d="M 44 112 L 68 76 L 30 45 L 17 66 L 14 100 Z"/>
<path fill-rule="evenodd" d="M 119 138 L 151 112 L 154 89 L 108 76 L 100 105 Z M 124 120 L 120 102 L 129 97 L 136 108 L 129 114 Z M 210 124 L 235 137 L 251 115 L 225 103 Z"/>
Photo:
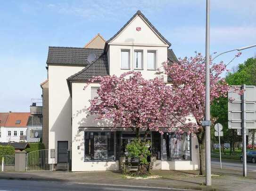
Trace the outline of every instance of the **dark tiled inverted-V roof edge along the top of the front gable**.
<path fill-rule="evenodd" d="M 116 38 L 116 36 L 119 35 L 119 34 L 124 30 L 124 28 L 125 28 L 129 23 L 131 23 L 132 20 L 133 20 L 133 19 L 135 18 L 135 16 L 137 16 L 137 15 L 140 15 L 140 16 L 149 24 L 149 26 L 159 35 L 159 37 L 161 37 L 169 46 L 172 45 L 165 37 L 163 37 L 163 35 L 162 35 L 159 31 L 157 31 L 157 29 L 154 27 L 154 25 L 149 22 L 149 20 L 147 19 L 147 17 L 146 17 L 145 15 L 143 15 L 143 14 L 140 12 L 140 10 L 138 10 L 138 11 L 132 16 L 132 18 L 131 18 L 127 23 L 125 23 L 124 26 L 123 26 L 113 37 L 111 37 L 111 38 L 109 38 L 109 39 L 107 40 L 106 45 L 107 45 L 107 43 L 109 43 L 111 40 L 113 40 L 114 38 Z M 105 46 L 106 46 L 106 45 L 105 45 Z"/>

